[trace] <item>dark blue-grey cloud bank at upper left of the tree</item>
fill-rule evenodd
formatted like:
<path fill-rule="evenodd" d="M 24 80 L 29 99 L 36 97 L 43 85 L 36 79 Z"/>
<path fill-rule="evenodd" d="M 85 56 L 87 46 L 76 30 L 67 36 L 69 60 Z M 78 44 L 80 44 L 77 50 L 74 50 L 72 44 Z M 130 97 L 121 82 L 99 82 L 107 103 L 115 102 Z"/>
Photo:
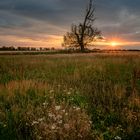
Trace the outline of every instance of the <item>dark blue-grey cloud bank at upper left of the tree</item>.
<path fill-rule="evenodd" d="M 61 26 L 76 20 L 81 4 L 80 0 L 5 0 L 0 3 L 0 9 Z"/>

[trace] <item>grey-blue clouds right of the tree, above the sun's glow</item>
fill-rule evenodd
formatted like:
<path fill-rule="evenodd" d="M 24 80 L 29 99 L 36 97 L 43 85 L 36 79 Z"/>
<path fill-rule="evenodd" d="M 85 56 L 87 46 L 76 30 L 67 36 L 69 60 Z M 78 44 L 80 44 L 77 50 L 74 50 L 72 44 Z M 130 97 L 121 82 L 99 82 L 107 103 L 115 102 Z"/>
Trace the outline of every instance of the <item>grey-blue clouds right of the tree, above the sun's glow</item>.
<path fill-rule="evenodd" d="M 98 0 L 97 26 L 106 36 L 121 36 L 129 40 L 139 39 L 140 31 L 139 0 Z"/>

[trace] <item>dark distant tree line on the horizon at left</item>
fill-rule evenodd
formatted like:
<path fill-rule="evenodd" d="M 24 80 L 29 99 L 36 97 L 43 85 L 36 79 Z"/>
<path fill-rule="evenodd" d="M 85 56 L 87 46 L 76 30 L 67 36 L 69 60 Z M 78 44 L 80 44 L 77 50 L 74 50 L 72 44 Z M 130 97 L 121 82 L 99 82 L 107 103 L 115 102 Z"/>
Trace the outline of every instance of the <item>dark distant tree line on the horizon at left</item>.
<path fill-rule="evenodd" d="M 14 47 L 14 46 L 2 46 L 0 47 L 0 51 L 48 51 L 48 50 L 55 50 L 55 48 L 35 48 L 35 47 Z"/>

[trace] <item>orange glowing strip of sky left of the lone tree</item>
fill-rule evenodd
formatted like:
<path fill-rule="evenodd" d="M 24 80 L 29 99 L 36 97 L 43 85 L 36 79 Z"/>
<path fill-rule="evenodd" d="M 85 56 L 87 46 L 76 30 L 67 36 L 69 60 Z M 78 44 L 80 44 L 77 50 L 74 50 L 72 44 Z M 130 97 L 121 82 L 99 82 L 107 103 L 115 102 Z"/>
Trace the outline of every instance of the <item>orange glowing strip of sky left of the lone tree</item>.
<path fill-rule="evenodd" d="M 18 46 L 23 47 L 61 47 L 63 42 L 63 36 L 57 35 L 44 35 L 42 38 L 27 38 L 27 37 L 17 37 L 17 36 L 0 36 L 1 40 L 6 42 L 7 46 L 18 44 Z M 8 41 L 7 41 L 8 40 Z"/>

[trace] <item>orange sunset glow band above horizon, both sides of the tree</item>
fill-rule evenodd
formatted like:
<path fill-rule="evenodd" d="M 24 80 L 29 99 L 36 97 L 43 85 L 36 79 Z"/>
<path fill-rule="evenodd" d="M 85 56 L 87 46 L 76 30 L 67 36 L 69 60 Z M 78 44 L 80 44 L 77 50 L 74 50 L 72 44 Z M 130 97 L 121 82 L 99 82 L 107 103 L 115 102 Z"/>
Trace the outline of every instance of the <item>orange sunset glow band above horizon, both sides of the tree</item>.
<path fill-rule="evenodd" d="M 8 35 L 6 38 L 4 36 L 0 36 L 1 40 L 4 40 L 7 44 L 6 45 L 14 45 L 18 44 L 19 46 L 24 47 L 54 47 L 54 48 L 61 48 L 63 43 L 63 36 L 59 35 L 44 35 L 42 38 L 26 38 L 26 37 L 16 37 Z M 8 41 L 6 41 L 8 40 Z M 140 42 L 136 41 L 126 41 L 122 39 L 105 39 L 105 40 L 98 40 L 96 42 L 91 43 L 93 47 L 95 46 L 102 46 L 106 49 L 121 49 L 123 46 L 139 46 Z"/>

